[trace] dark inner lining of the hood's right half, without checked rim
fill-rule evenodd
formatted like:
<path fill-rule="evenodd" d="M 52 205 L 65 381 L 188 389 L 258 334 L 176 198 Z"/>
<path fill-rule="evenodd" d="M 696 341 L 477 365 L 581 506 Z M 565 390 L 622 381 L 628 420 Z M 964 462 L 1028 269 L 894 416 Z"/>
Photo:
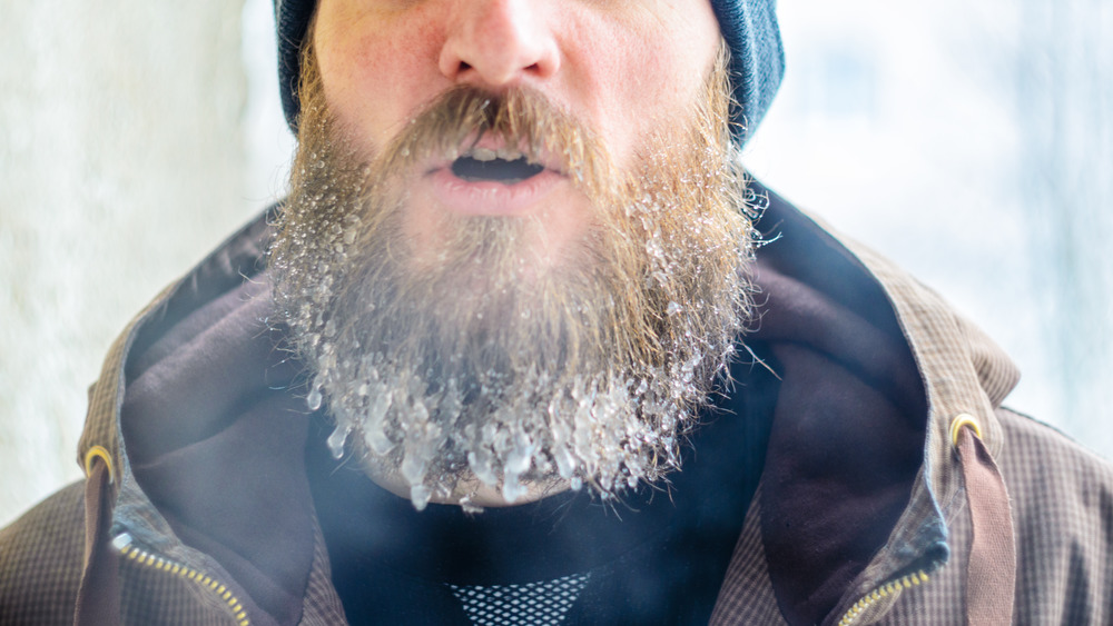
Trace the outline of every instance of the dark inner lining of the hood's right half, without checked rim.
<path fill-rule="evenodd" d="M 755 280 L 781 377 L 761 479 L 769 575 L 790 624 L 819 624 L 881 548 L 922 461 L 927 400 L 884 290 L 770 191 Z"/>

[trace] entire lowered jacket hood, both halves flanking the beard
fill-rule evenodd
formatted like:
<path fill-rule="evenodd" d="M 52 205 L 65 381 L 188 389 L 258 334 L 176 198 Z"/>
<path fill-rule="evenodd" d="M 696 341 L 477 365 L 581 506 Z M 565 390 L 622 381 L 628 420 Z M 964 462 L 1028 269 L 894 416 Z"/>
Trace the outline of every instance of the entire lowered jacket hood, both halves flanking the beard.
<path fill-rule="evenodd" d="M 814 623 L 946 560 L 963 501 L 952 420 L 973 416 L 996 454 L 993 410 L 1017 372 L 933 291 L 754 190 L 768 198 L 759 229 L 772 242 L 758 251 L 765 312 L 750 339 L 782 377 L 761 531 L 782 613 Z M 114 536 L 210 573 L 252 624 L 296 624 L 312 594 L 331 592 L 313 583 L 328 567 L 304 468 L 301 366 L 279 348 L 260 278 L 273 211 L 116 341 L 79 461 L 96 446 L 111 460 Z"/>

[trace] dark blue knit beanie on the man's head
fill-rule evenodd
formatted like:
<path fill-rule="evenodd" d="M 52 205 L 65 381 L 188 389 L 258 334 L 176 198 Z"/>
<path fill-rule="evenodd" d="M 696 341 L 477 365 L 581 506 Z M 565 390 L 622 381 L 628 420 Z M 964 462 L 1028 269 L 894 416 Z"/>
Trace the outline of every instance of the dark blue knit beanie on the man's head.
<path fill-rule="evenodd" d="M 302 40 L 315 0 L 275 0 L 278 24 L 278 85 L 290 129 L 297 128 L 297 80 Z M 777 0 L 711 0 L 719 29 L 730 46 L 735 99 L 735 138 L 754 135 L 772 102 L 785 73 L 785 51 L 777 27 Z"/>

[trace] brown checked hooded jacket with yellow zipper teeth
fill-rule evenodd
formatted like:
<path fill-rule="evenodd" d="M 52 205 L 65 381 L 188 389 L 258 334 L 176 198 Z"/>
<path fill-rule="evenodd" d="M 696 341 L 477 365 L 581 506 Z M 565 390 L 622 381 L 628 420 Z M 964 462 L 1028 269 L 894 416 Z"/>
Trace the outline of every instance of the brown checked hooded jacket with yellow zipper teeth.
<path fill-rule="evenodd" d="M 929 289 L 754 191 L 771 242 L 751 337 L 782 382 L 711 622 L 962 624 L 999 605 L 972 583 L 971 546 L 989 540 L 1015 554 L 993 564 L 1013 623 L 1113 623 L 1110 465 L 1002 408 L 1015 369 Z M 78 455 L 90 478 L 0 531 L 0 624 L 345 623 L 305 477 L 297 367 L 266 321 L 267 222 L 112 346 Z M 1008 494 L 1008 521 L 979 537 L 959 416 Z"/>

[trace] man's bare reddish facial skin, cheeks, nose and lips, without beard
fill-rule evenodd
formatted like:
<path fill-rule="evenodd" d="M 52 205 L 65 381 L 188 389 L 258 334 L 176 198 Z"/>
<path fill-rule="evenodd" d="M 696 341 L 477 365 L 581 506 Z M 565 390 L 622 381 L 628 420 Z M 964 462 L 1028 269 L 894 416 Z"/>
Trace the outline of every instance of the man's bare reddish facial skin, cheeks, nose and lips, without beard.
<path fill-rule="evenodd" d="M 629 170 L 644 138 L 674 125 L 702 89 L 719 31 L 706 0 L 322 0 L 314 40 L 326 101 L 364 157 L 466 83 L 539 90 Z M 538 217 L 536 245 L 555 252 L 590 221 L 587 199 L 552 162 L 513 186 L 467 182 L 447 165 L 413 173 L 404 228 L 421 249 L 435 249 L 443 212 Z"/>

